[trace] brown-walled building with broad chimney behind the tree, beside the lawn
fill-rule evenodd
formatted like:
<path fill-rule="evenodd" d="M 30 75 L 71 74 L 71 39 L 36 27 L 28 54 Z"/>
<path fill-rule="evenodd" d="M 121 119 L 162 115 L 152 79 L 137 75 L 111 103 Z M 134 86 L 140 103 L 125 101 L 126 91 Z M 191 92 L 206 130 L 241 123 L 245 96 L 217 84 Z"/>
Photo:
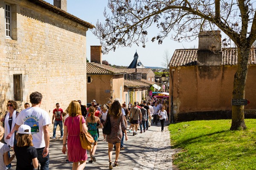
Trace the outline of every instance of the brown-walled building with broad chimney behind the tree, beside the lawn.
<path fill-rule="evenodd" d="M 220 31 L 202 32 L 198 38 L 198 49 L 175 50 L 169 65 L 174 113 L 178 120 L 231 118 L 237 49 L 221 48 Z M 245 117 L 256 110 L 255 80 L 256 49 L 251 48 L 245 86 L 245 99 L 251 103 L 244 106 Z"/>

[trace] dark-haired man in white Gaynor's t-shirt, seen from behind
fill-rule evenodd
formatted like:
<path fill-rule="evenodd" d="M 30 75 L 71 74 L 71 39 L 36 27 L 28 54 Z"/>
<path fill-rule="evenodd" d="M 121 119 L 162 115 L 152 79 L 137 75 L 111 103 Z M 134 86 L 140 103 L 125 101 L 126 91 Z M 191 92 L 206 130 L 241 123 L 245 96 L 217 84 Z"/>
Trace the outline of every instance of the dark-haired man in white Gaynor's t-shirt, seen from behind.
<path fill-rule="evenodd" d="M 49 124 L 51 120 L 49 114 L 39 108 L 42 98 L 42 94 L 37 91 L 30 94 L 32 107 L 21 111 L 15 123 L 17 130 L 23 124 L 31 127 L 32 142 L 37 150 L 41 170 L 49 170 Z"/>

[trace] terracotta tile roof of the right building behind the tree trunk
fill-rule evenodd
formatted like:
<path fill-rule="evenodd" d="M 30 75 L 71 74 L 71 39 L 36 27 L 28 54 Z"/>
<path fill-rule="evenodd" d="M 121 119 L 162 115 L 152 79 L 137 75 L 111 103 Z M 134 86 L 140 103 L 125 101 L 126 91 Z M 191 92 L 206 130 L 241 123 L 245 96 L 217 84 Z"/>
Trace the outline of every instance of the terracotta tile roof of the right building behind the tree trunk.
<path fill-rule="evenodd" d="M 175 50 L 170 61 L 171 67 L 197 65 L 198 49 Z M 249 65 L 256 64 L 256 48 L 250 49 Z M 221 65 L 237 65 L 237 48 L 222 49 Z"/>

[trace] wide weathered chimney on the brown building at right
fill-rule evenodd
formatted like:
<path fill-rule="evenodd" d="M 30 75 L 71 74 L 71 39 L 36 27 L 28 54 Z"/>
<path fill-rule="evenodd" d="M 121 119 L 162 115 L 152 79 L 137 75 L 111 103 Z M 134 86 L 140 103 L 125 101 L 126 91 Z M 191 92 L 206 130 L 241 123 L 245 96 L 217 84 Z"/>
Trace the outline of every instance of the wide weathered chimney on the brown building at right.
<path fill-rule="evenodd" d="M 203 31 L 198 39 L 198 65 L 221 65 L 221 31 Z"/>

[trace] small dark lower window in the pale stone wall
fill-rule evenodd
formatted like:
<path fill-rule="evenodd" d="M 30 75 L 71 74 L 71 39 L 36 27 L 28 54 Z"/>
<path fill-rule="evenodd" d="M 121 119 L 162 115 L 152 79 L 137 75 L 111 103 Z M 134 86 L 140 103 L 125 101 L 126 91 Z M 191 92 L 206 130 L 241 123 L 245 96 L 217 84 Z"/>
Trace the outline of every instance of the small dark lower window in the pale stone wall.
<path fill-rule="evenodd" d="M 14 100 L 22 101 L 22 74 L 13 75 Z"/>

